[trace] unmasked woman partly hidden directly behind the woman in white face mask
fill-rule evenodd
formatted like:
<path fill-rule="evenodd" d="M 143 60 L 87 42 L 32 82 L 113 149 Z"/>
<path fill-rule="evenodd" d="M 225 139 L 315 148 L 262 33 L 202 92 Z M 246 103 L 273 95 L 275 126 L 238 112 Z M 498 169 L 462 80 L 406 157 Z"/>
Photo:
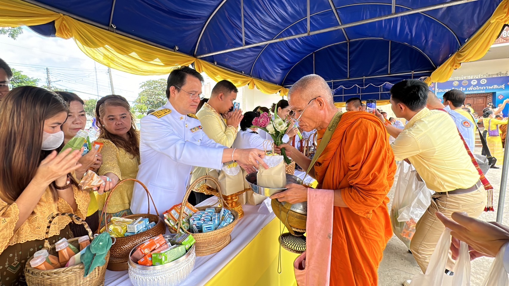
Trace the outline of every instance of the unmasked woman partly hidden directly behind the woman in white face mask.
<path fill-rule="evenodd" d="M 87 125 L 87 115 L 85 114 L 84 102 L 81 98 L 79 98 L 79 96 L 70 92 L 55 93 L 62 96 L 69 105 L 67 120 L 64 124 L 62 124 L 62 131 L 64 131 L 64 143 L 62 144 L 62 147 L 64 147 L 64 145 L 67 144 L 67 142 L 69 142 L 69 140 L 74 137 L 79 130 L 85 129 L 85 126 Z M 89 168 L 92 168 L 95 171 L 99 169 L 102 164 L 102 155 L 100 152 L 97 152 L 95 148 L 92 148 L 87 154 L 83 155 L 79 159 L 78 163 L 81 164 L 81 167 L 76 169 L 75 174 L 76 179 L 80 180 Z M 106 177 L 103 177 L 102 179 L 106 181 L 109 180 Z M 97 188 L 95 190 L 97 190 Z M 97 206 L 97 199 L 94 192 L 90 192 L 90 204 L 85 221 L 93 232 L 99 228 L 99 207 Z M 87 230 L 82 224 L 71 223 L 69 226 L 71 227 L 74 237 L 87 235 Z"/>

